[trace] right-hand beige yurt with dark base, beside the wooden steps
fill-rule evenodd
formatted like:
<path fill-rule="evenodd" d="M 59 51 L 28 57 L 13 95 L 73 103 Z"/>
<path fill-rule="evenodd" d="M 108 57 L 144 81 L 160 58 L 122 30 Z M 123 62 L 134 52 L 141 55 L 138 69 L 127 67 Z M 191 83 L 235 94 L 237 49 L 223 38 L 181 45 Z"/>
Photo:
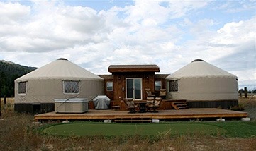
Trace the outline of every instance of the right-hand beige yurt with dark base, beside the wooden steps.
<path fill-rule="evenodd" d="M 167 98 L 186 99 L 189 107 L 238 105 L 238 78 L 221 68 L 196 59 L 167 76 Z"/>

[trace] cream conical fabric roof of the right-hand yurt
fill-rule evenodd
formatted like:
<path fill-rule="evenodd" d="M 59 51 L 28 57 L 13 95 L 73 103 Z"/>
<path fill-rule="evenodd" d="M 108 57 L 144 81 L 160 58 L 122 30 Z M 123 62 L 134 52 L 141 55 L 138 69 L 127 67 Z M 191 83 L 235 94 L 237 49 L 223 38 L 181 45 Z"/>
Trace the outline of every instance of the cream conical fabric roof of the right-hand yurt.
<path fill-rule="evenodd" d="M 206 61 L 201 59 L 196 59 L 192 61 L 187 66 L 180 68 L 178 71 L 167 76 L 166 79 L 180 79 L 180 78 L 199 78 L 199 77 L 208 77 L 208 78 L 217 78 L 217 77 L 226 77 L 226 78 L 237 78 L 235 75 L 223 71 L 223 69 L 208 64 Z"/>

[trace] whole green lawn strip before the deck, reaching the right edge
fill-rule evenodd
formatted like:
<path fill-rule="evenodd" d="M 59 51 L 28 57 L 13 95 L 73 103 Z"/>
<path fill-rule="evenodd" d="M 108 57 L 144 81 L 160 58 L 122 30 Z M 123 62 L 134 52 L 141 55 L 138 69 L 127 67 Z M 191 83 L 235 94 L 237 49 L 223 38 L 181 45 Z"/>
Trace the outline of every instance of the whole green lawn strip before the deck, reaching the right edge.
<path fill-rule="evenodd" d="M 58 123 L 43 128 L 43 133 L 60 136 L 122 135 L 226 135 L 248 138 L 256 136 L 256 122 L 175 122 L 175 123 Z"/>

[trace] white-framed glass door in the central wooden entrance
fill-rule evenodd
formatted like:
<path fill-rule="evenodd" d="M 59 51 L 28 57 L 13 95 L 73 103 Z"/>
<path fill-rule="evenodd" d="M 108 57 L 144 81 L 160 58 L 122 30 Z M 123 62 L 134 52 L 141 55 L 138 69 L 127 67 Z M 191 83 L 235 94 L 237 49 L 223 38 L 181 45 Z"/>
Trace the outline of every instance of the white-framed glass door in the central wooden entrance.
<path fill-rule="evenodd" d="M 126 79 L 126 98 L 141 99 L 141 78 Z"/>

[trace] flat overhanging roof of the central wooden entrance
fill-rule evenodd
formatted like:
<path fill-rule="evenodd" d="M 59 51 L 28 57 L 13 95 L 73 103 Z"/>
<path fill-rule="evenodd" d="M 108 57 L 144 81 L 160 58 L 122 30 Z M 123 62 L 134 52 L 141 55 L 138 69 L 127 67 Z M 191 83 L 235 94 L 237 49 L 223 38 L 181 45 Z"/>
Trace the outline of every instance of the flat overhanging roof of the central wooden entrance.
<path fill-rule="evenodd" d="M 160 72 L 160 68 L 155 64 L 143 65 L 110 65 L 108 67 L 110 73 L 123 72 Z"/>

